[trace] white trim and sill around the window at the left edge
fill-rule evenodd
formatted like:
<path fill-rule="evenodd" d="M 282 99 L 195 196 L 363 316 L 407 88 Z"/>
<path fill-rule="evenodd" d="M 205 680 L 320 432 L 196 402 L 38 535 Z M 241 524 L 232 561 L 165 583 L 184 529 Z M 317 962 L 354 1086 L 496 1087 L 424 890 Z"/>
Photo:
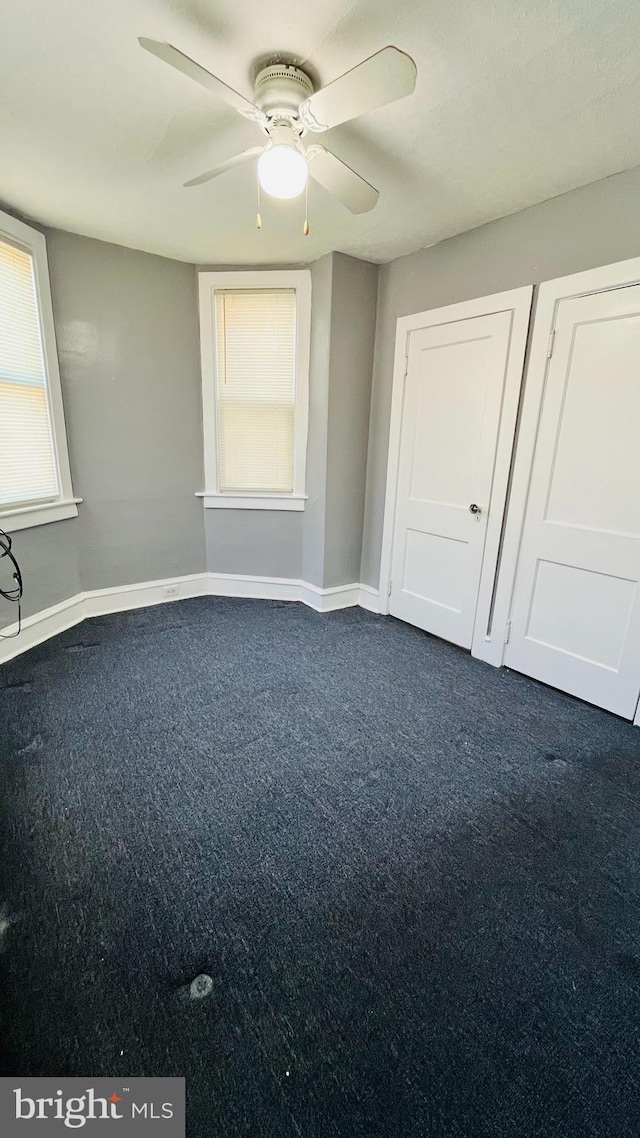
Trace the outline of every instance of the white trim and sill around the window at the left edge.
<path fill-rule="evenodd" d="M 43 526 L 50 521 L 61 521 L 65 518 L 77 517 L 77 503 L 82 498 L 73 496 L 71 469 L 63 407 L 63 391 L 58 368 L 56 347 L 56 329 L 54 325 L 54 308 L 51 305 L 51 286 L 49 283 L 49 262 L 47 259 L 47 242 L 44 234 L 25 225 L 24 222 L 0 212 L 0 240 L 17 245 L 33 257 L 38 312 L 42 333 L 42 355 L 47 378 L 47 398 L 51 413 L 51 435 L 54 439 L 54 459 L 58 473 L 57 498 L 38 505 L 0 506 L 0 528 L 10 533 L 27 529 L 31 526 Z"/>

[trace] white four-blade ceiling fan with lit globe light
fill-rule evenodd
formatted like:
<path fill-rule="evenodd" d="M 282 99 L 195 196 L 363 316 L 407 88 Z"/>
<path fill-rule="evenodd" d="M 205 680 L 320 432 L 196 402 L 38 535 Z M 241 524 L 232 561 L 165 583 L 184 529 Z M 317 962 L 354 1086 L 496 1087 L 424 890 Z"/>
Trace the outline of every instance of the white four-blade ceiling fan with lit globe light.
<path fill-rule="evenodd" d="M 262 146 L 227 158 L 205 174 L 184 182 L 184 185 L 202 185 L 260 156 L 260 187 L 271 197 L 297 197 L 306 188 L 307 176 L 311 175 L 352 213 L 366 213 L 374 208 L 378 200 L 375 187 L 323 146 L 307 146 L 304 140 L 310 131 L 328 131 L 411 94 L 416 86 L 416 64 L 404 51 L 383 48 L 319 91 L 313 90 L 312 81 L 301 67 L 276 63 L 257 74 L 254 101 L 251 102 L 171 43 L 159 43 L 145 36 L 139 39 L 139 43 L 145 51 L 150 51 L 224 99 L 266 135 Z"/>

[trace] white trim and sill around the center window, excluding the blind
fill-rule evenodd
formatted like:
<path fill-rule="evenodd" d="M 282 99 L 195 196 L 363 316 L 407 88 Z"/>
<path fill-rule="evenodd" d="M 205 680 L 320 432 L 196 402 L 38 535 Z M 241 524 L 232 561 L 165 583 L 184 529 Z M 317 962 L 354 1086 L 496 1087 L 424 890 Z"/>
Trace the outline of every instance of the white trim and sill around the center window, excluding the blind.
<path fill-rule="evenodd" d="M 296 290 L 296 402 L 294 412 L 294 489 L 292 494 L 223 494 L 218 473 L 218 401 L 215 374 L 215 314 L 212 292 L 220 289 L 295 288 Z M 306 431 L 309 424 L 309 360 L 311 352 L 311 273 L 301 270 L 199 272 L 200 358 L 205 489 L 197 494 L 207 510 L 304 510 Z"/>

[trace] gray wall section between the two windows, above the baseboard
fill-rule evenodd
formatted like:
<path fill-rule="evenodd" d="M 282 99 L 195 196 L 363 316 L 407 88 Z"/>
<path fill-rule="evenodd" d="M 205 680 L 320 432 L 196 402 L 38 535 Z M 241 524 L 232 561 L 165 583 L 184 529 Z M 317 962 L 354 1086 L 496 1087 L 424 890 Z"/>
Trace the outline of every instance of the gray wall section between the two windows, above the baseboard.
<path fill-rule="evenodd" d="M 81 587 L 203 571 L 194 267 L 57 230 L 47 247 Z"/>

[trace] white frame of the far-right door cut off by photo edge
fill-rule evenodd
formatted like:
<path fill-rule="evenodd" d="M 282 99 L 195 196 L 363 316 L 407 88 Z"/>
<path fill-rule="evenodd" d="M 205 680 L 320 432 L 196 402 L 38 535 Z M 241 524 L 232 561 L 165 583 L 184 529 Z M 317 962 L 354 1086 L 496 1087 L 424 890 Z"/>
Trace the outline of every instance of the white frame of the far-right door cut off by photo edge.
<path fill-rule="evenodd" d="M 613 265 L 588 269 L 585 272 L 572 273 L 568 277 L 558 277 L 544 281 L 538 289 L 514 473 L 504 520 L 500 572 L 495 586 L 494 625 L 498 621 L 498 615 L 500 615 L 504 628 L 500 663 L 502 663 L 508 640 L 538 426 L 542 412 L 549 361 L 552 355 L 558 305 L 560 300 L 589 296 L 592 292 L 608 292 L 632 284 L 640 284 L 640 257 L 618 261 Z M 640 704 L 633 721 L 640 727 Z"/>

